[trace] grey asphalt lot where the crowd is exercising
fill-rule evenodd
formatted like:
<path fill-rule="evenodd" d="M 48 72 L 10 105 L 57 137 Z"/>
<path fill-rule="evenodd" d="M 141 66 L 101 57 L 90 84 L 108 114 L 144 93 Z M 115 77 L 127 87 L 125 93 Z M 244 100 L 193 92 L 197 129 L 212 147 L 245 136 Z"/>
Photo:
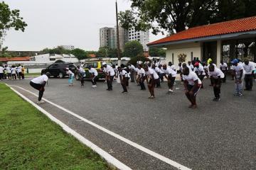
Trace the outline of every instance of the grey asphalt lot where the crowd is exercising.
<path fill-rule="evenodd" d="M 29 80 L 6 83 L 37 101 L 28 92 L 38 94 Z M 68 79 L 50 79 L 44 98 L 127 142 L 48 102 L 40 106 L 131 169 L 256 169 L 256 92 L 233 96 L 234 84 L 228 81 L 221 101 L 213 102 L 210 81 L 204 84 L 198 108 L 191 109 L 179 81 L 175 94 L 166 95 L 164 83 L 155 89 L 156 98 L 149 99 L 149 91 L 133 83 L 128 94 L 121 94 L 122 87 L 115 83 L 113 91 L 106 91 L 103 81 L 91 89 L 90 81 L 81 88 L 79 81 L 68 86 Z"/>

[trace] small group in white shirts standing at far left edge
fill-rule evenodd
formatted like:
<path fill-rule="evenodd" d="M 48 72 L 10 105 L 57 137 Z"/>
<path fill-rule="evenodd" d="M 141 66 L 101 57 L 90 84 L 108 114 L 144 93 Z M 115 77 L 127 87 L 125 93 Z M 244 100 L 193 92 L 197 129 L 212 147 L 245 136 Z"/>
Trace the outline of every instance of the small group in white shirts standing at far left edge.
<path fill-rule="evenodd" d="M 8 65 L 0 65 L 0 80 L 3 81 L 4 79 L 9 80 L 16 80 L 16 79 L 24 79 L 25 68 L 18 64 L 12 65 L 9 67 Z"/>

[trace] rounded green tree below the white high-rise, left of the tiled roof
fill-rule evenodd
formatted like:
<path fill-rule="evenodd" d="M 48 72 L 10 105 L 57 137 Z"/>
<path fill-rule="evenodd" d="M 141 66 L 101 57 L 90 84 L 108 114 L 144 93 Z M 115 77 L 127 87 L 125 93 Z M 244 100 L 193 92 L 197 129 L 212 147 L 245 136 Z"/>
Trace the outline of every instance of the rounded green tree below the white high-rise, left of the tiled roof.
<path fill-rule="evenodd" d="M 124 57 L 136 57 L 143 55 L 143 46 L 139 41 L 129 41 L 124 45 Z"/>

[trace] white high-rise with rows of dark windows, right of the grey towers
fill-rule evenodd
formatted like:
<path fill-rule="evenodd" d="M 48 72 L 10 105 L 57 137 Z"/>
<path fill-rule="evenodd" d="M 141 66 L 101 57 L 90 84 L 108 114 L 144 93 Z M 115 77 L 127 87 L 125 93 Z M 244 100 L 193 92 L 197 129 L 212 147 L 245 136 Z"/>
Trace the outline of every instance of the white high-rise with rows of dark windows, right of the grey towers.
<path fill-rule="evenodd" d="M 132 40 L 139 41 L 143 46 L 144 52 L 149 51 L 149 47 L 146 46 L 149 43 L 149 30 L 144 32 L 144 31 L 136 31 L 134 28 L 130 28 L 129 41 L 132 41 Z"/>

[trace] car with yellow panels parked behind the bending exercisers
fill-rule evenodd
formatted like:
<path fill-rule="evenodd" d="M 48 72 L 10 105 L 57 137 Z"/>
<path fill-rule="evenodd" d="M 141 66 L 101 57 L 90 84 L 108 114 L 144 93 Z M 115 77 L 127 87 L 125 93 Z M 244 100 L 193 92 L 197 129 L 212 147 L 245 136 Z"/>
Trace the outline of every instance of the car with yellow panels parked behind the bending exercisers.
<path fill-rule="evenodd" d="M 95 68 L 97 70 L 99 79 L 105 79 L 105 74 L 101 69 L 102 62 L 106 62 L 107 64 L 112 66 L 112 62 L 110 62 L 109 60 L 107 60 L 107 61 L 93 60 L 93 61 L 85 62 L 82 66 L 82 68 L 85 69 L 85 74 L 86 74 L 85 79 L 90 79 L 90 73 L 88 70 L 89 66 L 92 66 L 92 68 Z M 75 79 L 77 79 L 77 80 L 79 79 L 78 74 L 76 75 Z"/>

